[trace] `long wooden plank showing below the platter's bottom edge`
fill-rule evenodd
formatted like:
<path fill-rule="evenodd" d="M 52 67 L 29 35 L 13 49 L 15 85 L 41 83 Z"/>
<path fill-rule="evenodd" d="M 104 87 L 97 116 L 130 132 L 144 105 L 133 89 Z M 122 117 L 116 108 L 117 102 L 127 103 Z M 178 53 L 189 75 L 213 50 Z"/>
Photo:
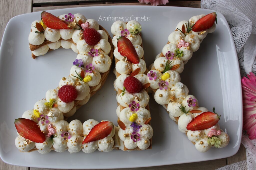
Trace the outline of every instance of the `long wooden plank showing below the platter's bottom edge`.
<path fill-rule="evenodd" d="M 167 170 L 167 169 L 189 169 L 189 170 L 214 170 L 220 168 L 222 166 L 226 166 L 226 159 L 217 159 L 212 161 L 204 161 L 204 162 L 193 162 L 186 164 L 176 164 L 176 165 L 164 165 L 164 166 L 153 166 L 153 167 L 144 167 L 144 168 L 124 168 L 123 170 Z M 106 167 L 107 168 L 107 167 Z M 30 168 L 30 170 L 50 170 L 45 168 Z M 61 170 L 61 169 L 55 169 Z M 72 169 L 75 170 L 75 169 Z M 118 170 L 118 169 L 109 169 L 109 170 Z"/>

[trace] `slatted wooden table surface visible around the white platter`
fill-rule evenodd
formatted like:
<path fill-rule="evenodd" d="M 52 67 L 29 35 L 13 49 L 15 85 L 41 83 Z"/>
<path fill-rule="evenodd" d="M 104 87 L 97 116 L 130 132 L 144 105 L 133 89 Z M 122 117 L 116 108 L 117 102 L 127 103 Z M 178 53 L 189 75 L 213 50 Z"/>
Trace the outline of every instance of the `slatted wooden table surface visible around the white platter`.
<path fill-rule="evenodd" d="M 172 1 L 167 4 L 167 6 L 182 6 L 182 7 L 194 7 L 200 8 L 200 1 Z M 0 16 L 2 16 L 0 24 L 0 43 L 2 41 L 4 29 L 7 22 L 14 16 L 50 9 L 61 9 L 61 8 L 72 8 L 72 7 L 82 7 L 82 6 L 104 6 L 104 5 L 142 5 L 137 1 L 128 0 L 1 0 L 0 1 Z M 146 5 L 146 4 L 143 4 Z M 186 163 L 186 164 L 176 164 L 176 165 L 166 165 L 166 166 L 156 166 L 148 168 L 131 168 L 135 169 L 216 169 L 225 165 L 229 165 L 235 162 L 246 160 L 246 152 L 244 146 L 241 144 L 239 151 L 231 157 L 204 161 L 200 163 Z M 43 168 L 33 168 L 33 167 L 22 167 L 14 166 L 4 163 L 0 160 L 0 169 L 18 169 L 18 170 L 46 170 Z"/>

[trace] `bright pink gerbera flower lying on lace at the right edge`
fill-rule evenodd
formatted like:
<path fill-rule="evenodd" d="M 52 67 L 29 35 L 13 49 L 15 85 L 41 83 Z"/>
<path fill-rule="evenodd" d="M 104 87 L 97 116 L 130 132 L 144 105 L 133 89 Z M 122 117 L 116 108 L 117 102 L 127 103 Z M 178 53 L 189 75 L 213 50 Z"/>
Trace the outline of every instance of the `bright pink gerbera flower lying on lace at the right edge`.
<path fill-rule="evenodd" d="M 256 139 L 256 76 L 250 72 L 242 78 L 243 90 L 243 130 L 249 139 Z"/>

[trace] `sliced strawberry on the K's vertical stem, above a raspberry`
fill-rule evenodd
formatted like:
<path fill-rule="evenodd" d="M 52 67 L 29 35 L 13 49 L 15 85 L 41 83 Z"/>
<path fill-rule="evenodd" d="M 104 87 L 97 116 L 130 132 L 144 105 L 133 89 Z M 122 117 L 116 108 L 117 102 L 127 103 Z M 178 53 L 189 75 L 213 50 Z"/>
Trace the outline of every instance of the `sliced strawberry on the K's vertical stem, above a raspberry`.
<path fill-rule="evenodd" d="M 117 41 L 118 52 L 127 57 L 127 59 L 133 64 L 138 64 L 140 59 L 132 42 L 126 37 L 119 37 Z"/>

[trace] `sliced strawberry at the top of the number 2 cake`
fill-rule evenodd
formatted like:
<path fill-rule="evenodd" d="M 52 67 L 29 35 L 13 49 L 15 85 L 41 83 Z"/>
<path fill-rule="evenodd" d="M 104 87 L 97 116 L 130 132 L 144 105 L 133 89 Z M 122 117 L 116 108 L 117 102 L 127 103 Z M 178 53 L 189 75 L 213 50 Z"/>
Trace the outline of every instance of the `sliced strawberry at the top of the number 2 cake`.
<path fill-rule="evenodd" d="M 41 18 L 42 21 L 44 22 L 44 24 L 48 27 L 48 28 L 52 28 L 52 29 L 70 29 L 68 27 L 68 24 L 64 21 L 62 21 L 60 18 L 46 12 L 46 11 L 42 11 L 41 13 Z"/>

